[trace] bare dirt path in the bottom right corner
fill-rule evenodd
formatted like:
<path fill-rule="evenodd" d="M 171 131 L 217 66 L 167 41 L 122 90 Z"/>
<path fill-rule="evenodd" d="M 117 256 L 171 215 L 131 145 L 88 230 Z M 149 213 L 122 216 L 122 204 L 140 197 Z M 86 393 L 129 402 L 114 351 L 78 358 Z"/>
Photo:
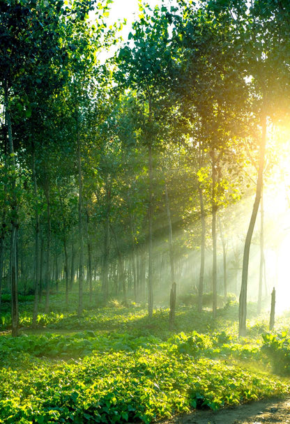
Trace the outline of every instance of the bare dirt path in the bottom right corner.
<path fill-rule="evenodd" d="M 196 411 L 160 424 L 264 424 L 290 423 L 290 398 L 261 400 L 235 408 Z"/>

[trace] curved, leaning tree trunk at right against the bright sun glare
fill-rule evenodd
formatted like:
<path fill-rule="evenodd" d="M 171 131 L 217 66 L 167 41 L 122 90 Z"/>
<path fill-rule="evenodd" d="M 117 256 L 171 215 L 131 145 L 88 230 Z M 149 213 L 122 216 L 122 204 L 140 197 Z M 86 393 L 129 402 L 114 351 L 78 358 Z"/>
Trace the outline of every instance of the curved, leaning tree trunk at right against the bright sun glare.
<path fill-rule="evenodd" d="M 241 284 L 241 293 L 240 293 L 239 309 L 238 309 L 238 334 L 240 337 L 245 336 L 245 333 L 246 333 L 247 275 L 249 270 L 250 246 L 252 241 L 252 234 L 254 232 L 254 225 L 256 222 L 257 213 L 259 209 L 259 203 L 261 199 L 261 190 L 263 186 L 263 171 L 264 171 L 266 138 L 267 138 L 267 121 L 266 121 L 265 110 L 263 110 L 261 115 L 261 127 L 262 127 L 262 137 L 261 137 L 261 147 L 260 147 L 260 156 L 259 156 L 259 170 L 258 170 L 256 197 L 254 199 L 254 206 L 252 210 L 252 216 L 250 219 L 250 225 L 249 225 L 249 228 L 247 229 L 247 236 L 245 238 L 245 247 L 244 247 L 244 255 L 243 255 L 242 284 Z"/>

